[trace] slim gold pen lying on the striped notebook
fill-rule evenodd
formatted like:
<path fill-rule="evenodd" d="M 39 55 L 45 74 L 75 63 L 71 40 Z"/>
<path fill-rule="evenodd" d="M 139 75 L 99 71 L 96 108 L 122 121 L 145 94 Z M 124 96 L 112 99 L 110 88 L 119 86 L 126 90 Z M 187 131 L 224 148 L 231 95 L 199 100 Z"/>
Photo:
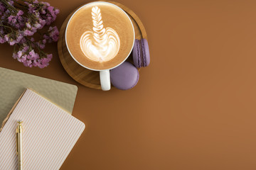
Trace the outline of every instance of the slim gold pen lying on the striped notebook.
<path fill-rule="evenodd" d="M 18 170 L 22 170 L 23 169 L 23 165 L 22 165 L 22 125 L 21 125 L 22 121 L 18 120 L 18 125 L 16 128 L 16 144 L 17 144 L 17 150 L 16 150 L 16 154 L 18 155 Z"/>

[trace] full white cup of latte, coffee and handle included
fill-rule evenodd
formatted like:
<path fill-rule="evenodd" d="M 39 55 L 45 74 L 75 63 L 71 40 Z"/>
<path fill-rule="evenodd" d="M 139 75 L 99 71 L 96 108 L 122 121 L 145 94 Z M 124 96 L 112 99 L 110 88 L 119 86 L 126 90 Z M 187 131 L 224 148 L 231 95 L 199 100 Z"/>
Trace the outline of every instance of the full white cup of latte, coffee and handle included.
<path fill-rule="evenodd" d="M 100 71 L 103 90 L 110 89 L 109 69 L 122 64 L 132 52 L 134 36 L 127 13 L 103 1 L 78 8 L 65 30 L 70 55 L 82 67 Z"/>

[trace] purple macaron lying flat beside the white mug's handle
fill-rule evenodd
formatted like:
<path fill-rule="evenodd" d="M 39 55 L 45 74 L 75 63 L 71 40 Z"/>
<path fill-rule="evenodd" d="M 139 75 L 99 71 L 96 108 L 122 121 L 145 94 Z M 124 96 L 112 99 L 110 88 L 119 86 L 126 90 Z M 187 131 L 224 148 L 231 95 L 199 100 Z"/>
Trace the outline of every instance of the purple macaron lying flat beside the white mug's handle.
<path fill-rule="evenodd" d="M 117 89 L 132 89 L 139 81 L 138 69 L 133 64 L 124 62 L 110 71 L 110 81 Z"/>

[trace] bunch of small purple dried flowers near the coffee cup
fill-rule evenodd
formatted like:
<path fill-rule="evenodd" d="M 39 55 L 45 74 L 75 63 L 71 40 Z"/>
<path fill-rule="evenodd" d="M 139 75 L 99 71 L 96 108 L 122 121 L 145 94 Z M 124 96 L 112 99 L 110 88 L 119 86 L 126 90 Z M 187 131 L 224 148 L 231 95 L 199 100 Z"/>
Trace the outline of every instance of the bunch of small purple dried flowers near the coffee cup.
<path fill-rule="evenodd" d="M 50 23 L 59 12 L 48 2 L 0 0 L 0 43 L 14 45 L 14 59 L 26 67 L 47 67 L 53 55 L 43 49 L 58 41 L 58 28 Z"/>

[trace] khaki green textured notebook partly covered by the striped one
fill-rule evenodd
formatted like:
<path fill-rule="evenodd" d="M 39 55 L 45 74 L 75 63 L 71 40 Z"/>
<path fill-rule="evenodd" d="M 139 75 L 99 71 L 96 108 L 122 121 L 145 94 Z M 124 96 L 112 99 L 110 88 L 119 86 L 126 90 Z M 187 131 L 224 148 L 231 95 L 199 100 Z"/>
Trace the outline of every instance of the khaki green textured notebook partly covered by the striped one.
<path fill-rule="evenodd" d="M 0 67 L 0 125 L 27 88 L 72 113 L 77 86 Z"/>

